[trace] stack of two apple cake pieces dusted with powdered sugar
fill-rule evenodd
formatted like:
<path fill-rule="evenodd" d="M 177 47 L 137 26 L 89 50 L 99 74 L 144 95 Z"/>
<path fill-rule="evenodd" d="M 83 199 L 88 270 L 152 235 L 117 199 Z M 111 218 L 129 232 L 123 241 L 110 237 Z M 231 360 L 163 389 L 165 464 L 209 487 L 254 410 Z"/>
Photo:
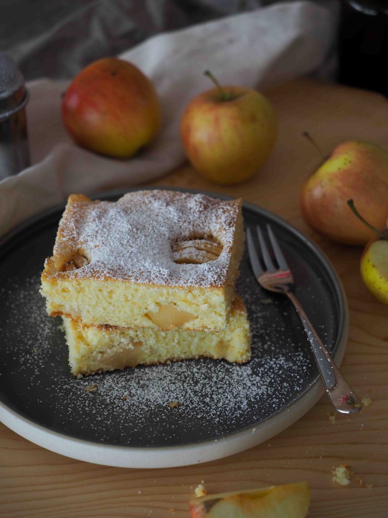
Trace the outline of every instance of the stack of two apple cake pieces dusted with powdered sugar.
<path fill-rule="evenodd" d="M 250 356 L 235 293 L 241 200 L 137 191 L 117 202 L 71 195 L 41 293 L 63 315 L 73 375 L 138 364 Z"/>

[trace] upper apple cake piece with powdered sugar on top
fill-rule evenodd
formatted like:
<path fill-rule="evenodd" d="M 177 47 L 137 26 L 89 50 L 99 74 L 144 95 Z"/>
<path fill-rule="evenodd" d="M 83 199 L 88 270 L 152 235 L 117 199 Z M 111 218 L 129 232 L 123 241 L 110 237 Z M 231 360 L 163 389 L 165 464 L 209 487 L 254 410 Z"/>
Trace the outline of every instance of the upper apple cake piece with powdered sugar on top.
<path fill-rule="evenodd" d="M 73 194 L 41 293 L 50 315 L 87 325 L 216 331 L 229 319 L 243 243 L 241 199 Z"/>

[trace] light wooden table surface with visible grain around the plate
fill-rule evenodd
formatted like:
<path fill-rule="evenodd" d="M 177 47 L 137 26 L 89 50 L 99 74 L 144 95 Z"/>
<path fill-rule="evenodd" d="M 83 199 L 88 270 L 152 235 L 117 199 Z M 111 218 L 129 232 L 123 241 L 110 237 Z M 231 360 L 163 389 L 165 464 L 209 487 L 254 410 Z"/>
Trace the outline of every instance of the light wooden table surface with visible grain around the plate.
<path fill-rule="evenodd" d="M 202 465 L 155 470 L 74 461 L 0 425 L 1 516 L 183 518 L 201 480 L 209 493 L 307 481 L 309 516 L 388 516 L 388 308 L 361 281 L 361 249 L 327 241 L 304 223 L 299 208 L 301 186 L 320 162 L 302 132 L 310 132 L 324 153 L 347 139 L 387 148 L 388 105 L 370 92 L 307 79 L 267 95 L 278 112 L 280 131 L 270 159 L 255 178 L 220 188 L 184 166 L 152 185 L 241 196 L 285 218 L 325 251 L 344 283 L 350 309 L 341 370 L 361 397 L 370 396 L 371 405 L 351 418 L 337 416 L 332 423 L 324 396 L 290 428 L 246 452 Z M 332 482 L 332 467 L 341 463 L 353 468 L 349 486 Z M 360 487 L 356 476 L 373 487 Z"/>

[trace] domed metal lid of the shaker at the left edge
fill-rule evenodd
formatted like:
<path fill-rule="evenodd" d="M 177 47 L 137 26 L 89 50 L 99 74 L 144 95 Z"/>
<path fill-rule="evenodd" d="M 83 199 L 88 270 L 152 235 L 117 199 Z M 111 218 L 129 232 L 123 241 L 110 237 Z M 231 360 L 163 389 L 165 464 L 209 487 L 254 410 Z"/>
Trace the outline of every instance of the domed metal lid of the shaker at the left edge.
<path fill-rule="evenodd" d="M 6 119 L 27 102 L 24 78 L 11 59 L 0 52 L 0 120 Z"/>

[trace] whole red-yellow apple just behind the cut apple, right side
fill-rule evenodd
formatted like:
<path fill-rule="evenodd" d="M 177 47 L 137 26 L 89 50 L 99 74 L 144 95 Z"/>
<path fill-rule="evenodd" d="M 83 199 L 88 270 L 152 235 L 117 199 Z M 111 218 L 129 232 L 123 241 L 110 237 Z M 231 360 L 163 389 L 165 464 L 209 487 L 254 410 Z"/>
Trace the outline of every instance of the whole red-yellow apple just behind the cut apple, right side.
<path fill-rule="evenodd" d="M 382 228 L 388 217 L 388 153 L 362 141 L 337 146 L 329 159 L 303 186 L 305 220 L 317 231 L 341 243 L 365 244 L 373 233 L 353 217 L 347 200 L 354 199 L 369 223 Z"/>

